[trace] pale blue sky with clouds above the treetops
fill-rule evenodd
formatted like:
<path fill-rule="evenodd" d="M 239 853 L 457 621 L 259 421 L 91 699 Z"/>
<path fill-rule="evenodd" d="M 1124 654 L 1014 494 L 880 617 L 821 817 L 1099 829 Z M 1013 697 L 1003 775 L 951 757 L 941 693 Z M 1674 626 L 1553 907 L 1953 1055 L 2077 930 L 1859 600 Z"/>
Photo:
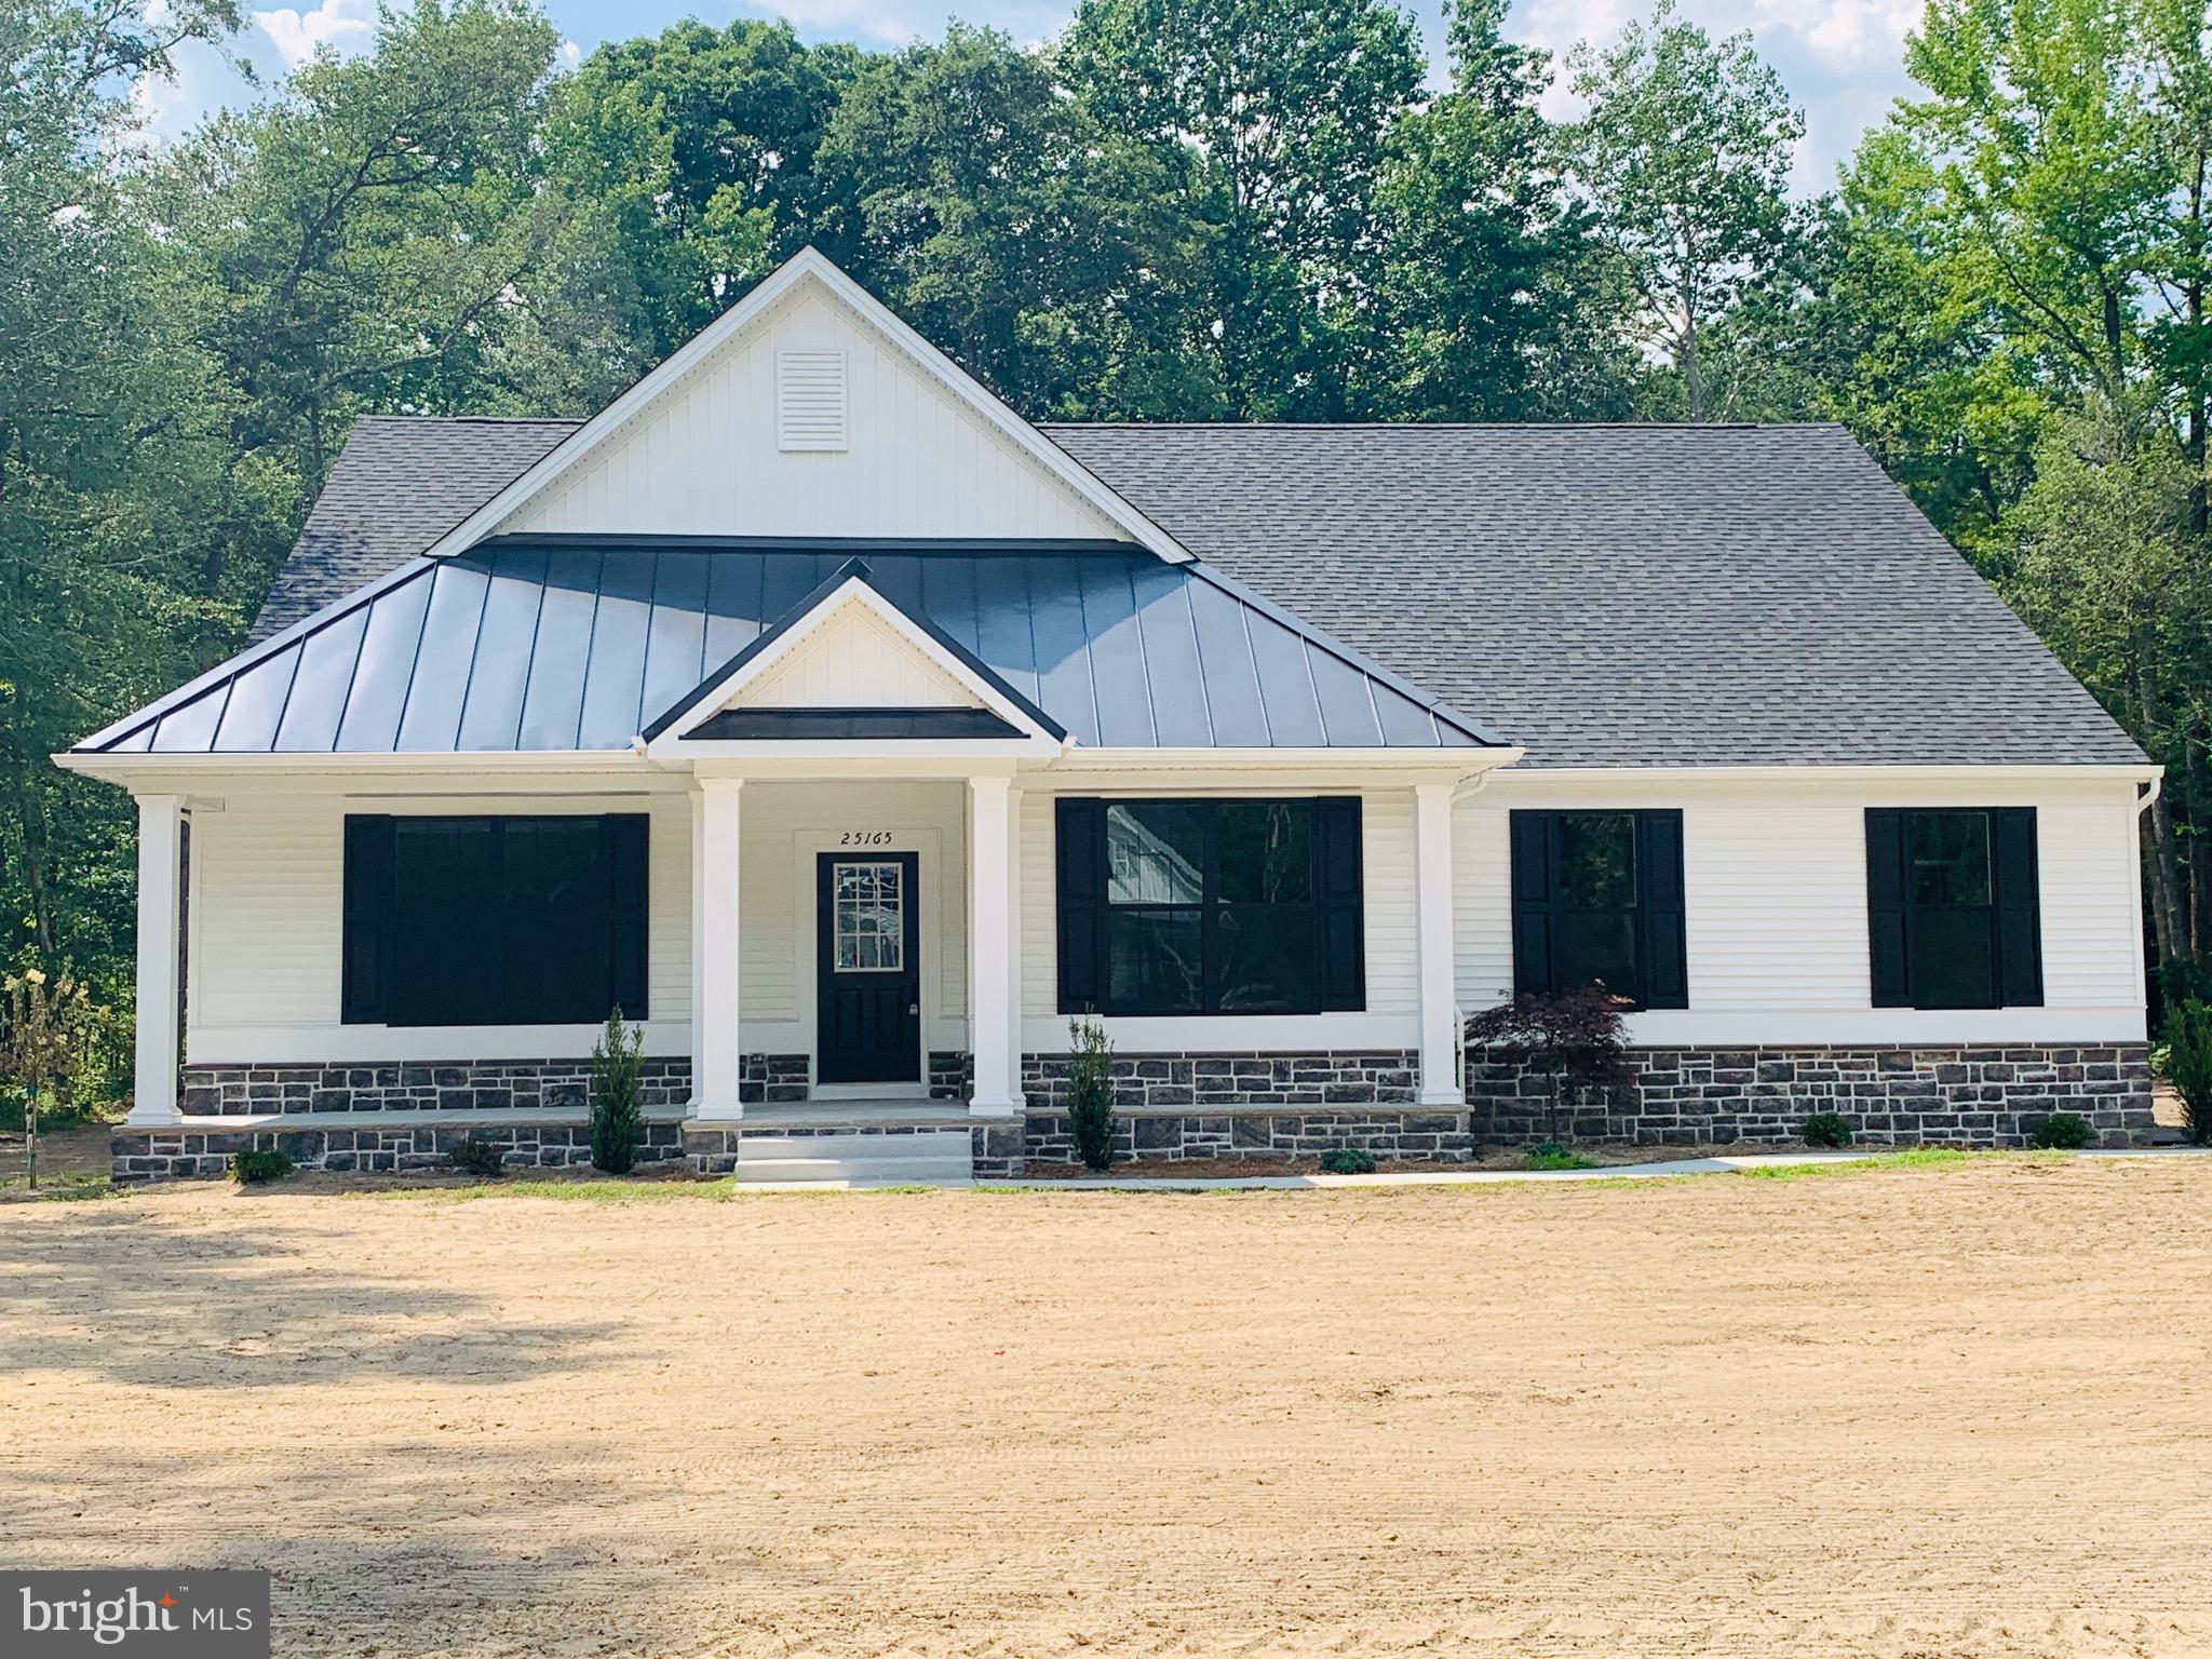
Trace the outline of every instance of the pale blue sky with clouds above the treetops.
<path fill-rule="evenodd" d="M 1413 7 L 1422 38 L 1440 53 L 1440 0 L 1402 2 Z M 1905 31 L 1920 18 L 1920 0 L 1677 0 L 1677 9 L 1714 35 L 1750 29 L 1759 51 L 1781 71 L 1792 97 L 1805 108 L 1807 133 L 1796 157 L 1796 186 L 1803 192 L 1829 188 L 1836 164 L 1849 157 L 1858 135 L 1880 122 L 1891 100 L 1909 86 L 1902 44 Z M 546 0 L 571 64 L 602 40 L 653 33 L 684 15 L 708 22 L 739 15 L 787 18 L 807 40 L 856 40 L 885 49 L 942 33 L 947 15 L 1004 29 L 1020 42 L 1037 42 L 1057 33 L 1071 11 L 1066 0 Z M 1610 40 L 1624 22 L 1646 11 L 1648 0 L 1513 0 L 1506 31 L 1528 44 L 1566 51 L 1577 40 Z M 369 46 L 376 0 L 316 0 L 250 15 L 232 53 L 252 64 L 261 84 L 270 86 L 319 49 L 354 53 Z M 208 111 L 252 95 L 246 80 L 201 46 L 179 53 L 173 84 L 139 88 L 148 133 L 157 142 L 175 139 Z M 1555 86 L 1551 113 L 1566 115 L 1571 108 L 1573 100 Z"/>

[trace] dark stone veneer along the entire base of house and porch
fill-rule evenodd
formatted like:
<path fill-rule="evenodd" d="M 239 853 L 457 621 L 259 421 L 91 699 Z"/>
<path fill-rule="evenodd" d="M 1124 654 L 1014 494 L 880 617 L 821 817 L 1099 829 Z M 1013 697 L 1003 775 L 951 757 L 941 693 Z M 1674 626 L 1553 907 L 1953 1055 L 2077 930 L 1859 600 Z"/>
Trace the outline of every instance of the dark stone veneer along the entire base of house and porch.
<path fill-rule="evenodd" d="M 2081 1113 L 2104 1146 L 2150 1139 L 2150 1053 L 2104 1046 L 1818 1046 L 1818 1048 L 1641 1048 L 1637 1082 L 1571 1113 L 1582 1139 L 1639 1144 L 1794 1141 L 1809 1113 L 1834 1110 L 1876 1146 L 2020 1146 L 2028 1121 Z M 1551 1124 L 1544 1079 L 1504 1051 L 1467 1057 L 1467 1110 L 1416 1104 L 1418 1064 L 1402 1048 L 1117 1055 L 1115 1146 L 1121 1157 L 1292 1159 L 1356 1146 L 1378 1159 L 1462 1164 L 1478 1146 L 1542 1139 Z M 969 1057 L 931 1053 L 931 1095 L 969 1091 Z M 1068 1164 L 1066 1055 L 1024 1055 L 1026 1115 L 973 1124 L 975 1175 L 1013 1177 L 1029 1161 Z M 807 1097 L 805 1055 L 745 1055 L 748 1104 Z M 646 1062 L 646 1104 L 690 1099 L 688 1060 Z M 409 1170 L 445 1161 L 462 1135 L 480 1135 L 511 1166 L 591 1159 L 588 1133 L 573 1121 L 588 1106 L 588 1066 L 577 1060 L 482 1060 L 387 1066 L 188 1066 L 184 1108 L 192 1117 L 358 1113 L 358 1128 L 254 1128 L 223 1133 L 117 1130 L 117 1181 L 221 1175 L 232 1152 L 276 1148 L 301 1168 Z M 383 1110 L 531 1110 L 571 1121 L 502 1126 L 376 1126 Z M 684 1157 L 701 1175 L 737 1161 L 745 1135 L 792 1135 L 774 1126 L 679 1130 L 655 1124 L 646 1161 Z M 807 1133 L 807 1130 L 796 1130 Z M 838 1133 L 832 1128 L 818 1133 Z M 854 1130 L 843 1130 L 854 1133 Z M 869 1126 L 863 1133 L 914 1133 Z"/>

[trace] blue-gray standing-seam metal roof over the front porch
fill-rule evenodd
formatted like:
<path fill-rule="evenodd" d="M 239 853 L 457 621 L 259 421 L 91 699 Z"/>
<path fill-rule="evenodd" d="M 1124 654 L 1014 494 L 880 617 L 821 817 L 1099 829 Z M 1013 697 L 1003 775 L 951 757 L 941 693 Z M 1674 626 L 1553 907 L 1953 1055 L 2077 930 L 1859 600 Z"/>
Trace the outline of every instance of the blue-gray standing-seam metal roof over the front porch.
<path fill-rule="evenodd" d="M 818 604 L 854 551 L 568 535 L 411 560 L 77 748 L 624 750 Z M 1495 741 L 1228 577 L 1133 544 L 874 544 L 863 573 L 1093 748 Z"/>

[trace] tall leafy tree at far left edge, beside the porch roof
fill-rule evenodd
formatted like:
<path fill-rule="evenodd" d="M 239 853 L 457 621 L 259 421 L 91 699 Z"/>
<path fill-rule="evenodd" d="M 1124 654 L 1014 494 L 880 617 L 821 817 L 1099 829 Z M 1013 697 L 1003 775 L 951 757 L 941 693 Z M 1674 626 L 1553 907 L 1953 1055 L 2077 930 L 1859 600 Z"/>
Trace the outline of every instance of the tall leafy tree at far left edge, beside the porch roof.
<path fill-rule="evenodd" d="M 0 13 L 0 960 L 128 960 L 128 801 L 46 754 L 188 677 L 234 613 L 195 549 L 265 518 L 226 460 L 215 367 L 137 212 L 133 77 L 234 4 L 20 0 Z"/>

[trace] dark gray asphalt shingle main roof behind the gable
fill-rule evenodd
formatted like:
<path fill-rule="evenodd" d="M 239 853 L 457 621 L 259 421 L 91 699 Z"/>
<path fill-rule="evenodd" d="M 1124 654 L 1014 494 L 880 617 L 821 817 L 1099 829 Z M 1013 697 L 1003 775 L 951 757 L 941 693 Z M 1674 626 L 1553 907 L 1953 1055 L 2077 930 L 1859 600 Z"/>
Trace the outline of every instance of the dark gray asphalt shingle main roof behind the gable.
<path fill-rule="evenodd" d="M 257 637 L 575 422 L 363 420 Z M 1044 427 L 1183 546 L 1531 765 L 2135 763 L 1840 427 Z"/>

